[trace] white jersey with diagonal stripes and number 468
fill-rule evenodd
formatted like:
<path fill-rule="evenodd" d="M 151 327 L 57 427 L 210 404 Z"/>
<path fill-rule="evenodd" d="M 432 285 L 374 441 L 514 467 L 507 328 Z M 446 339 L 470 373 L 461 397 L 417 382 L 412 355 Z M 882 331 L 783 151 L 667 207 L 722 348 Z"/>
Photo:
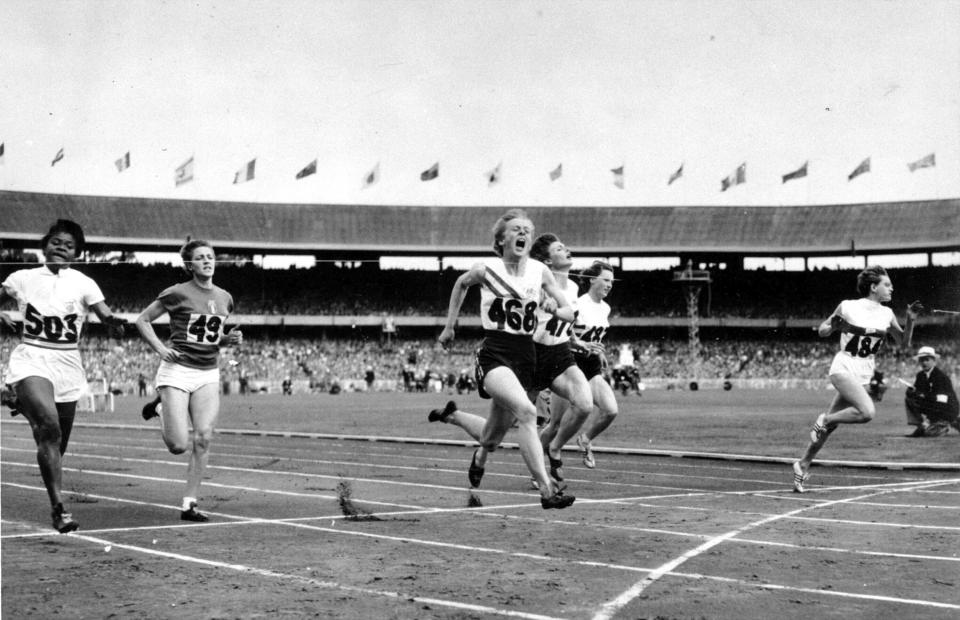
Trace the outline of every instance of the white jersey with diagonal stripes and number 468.
<path fill-rule="evenodd" d="M 547 266 L 528 258 L 522 274 L 507 273 L 500 258 L 483 262 L 480 287 L 480 323 L 488 331 L 532 336 L 537 328 L 537 308 Z"/>

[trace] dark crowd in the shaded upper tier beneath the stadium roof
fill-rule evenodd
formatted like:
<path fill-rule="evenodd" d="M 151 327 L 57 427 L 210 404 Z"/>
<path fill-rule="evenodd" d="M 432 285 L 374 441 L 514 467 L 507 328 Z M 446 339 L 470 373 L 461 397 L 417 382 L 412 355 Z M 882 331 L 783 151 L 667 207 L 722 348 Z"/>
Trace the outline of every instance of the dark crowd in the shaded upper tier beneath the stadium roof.
<path fill-rule="evenodd" d="M 174 265 L 96 263 L 79 269 L 97 281 L 119 312 L 139 312 L 160 290 L 185 279 L 182 269 Z M 822 319 L 841 299 L 856 295 L 856 273 L 713 269 L 713 281 L 700 294 L 700 315 Z M 686 316 L 684 290 L 673 274 L 673 270 L 618 270 L 607 300 L 612 316 Z M 245 262 L 219 265 L 216 281 L 230 291 L 237 312 L 243 314 L 438 316 L 444 314 L 459 275 L 453 269 L 385 270 L 376 262 L 321 262 L 309 269 L 262 269 Z M 895 307 L 915 299 L 931 308 L 960 307 L 960 267 L 891 269 L 890 275 Z M 463 312 L 475 315 L 478 309 L 479 293 L 474 288 Z"/>

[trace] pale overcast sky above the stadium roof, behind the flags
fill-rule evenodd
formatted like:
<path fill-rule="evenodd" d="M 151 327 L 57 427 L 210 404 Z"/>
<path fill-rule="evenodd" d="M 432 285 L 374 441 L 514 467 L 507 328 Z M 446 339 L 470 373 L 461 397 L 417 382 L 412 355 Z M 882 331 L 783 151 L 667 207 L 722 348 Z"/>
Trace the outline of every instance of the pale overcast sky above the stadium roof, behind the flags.
<path fill-rule="evenodd" d="M 960 196 L 960 0 L 3 7 L 3 189 L 425 205 Z M 935 167 L 908 170 L 930 153 Z M 190 157 L 195 178 L 176 187 Z M 743 162 L 747 182 L 721 192 Z"/>

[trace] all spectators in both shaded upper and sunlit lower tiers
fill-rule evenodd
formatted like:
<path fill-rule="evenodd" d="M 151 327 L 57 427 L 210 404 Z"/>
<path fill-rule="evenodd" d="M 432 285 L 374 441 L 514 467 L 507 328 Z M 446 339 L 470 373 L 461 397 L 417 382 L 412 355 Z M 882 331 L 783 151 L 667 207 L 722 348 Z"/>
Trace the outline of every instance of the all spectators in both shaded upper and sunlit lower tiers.
<path fill-rule="evenodd" d="M 116 311 L 138 313 L 163 288 L 181 282 L 179 266 L 144 266 L 128 263 L 95 263 L 78 267 L 92 276 Z M 459 271 L 442 272 L 381 270 L 375 262 L 318 263 L 309 269 L 265 270 L 250 262 L 223 263 L 217 268 L 217 284 L 230 291 L 236 311 L 253 315 L 394 315 L 442 316 L 449 291 Z M 713 270 L 713 282 L 700 296 L 700 315 L 744 318 L 810 318 L 829 315 L 841 299 L 855 296 L 855 270 L 766 272 Z M 923 267 L 890 270 L 896 296 L 894 307 L 902 308 L 920 299 L 928 308 L 960 307 L 960 267 Z M 2 277 L 3 273 L 0 273 Z M 574 274 L 575 275 L 575 274 Z M 608 301 L 611 320 L 618 317 L 682 317 L 686 305 L 682 287 L 673 281 L 672 270 L 618 271 Z M 400 294 L 399 292 L 402 292 Z M 472 288 L 463 315 L 476 315 L 479 294 Z M 8 308 L 9 309 L 9 308 Z M 898 312 L 901 314 L 901 312 Z M 944 354 L 941 366 L 954 368 L 957 358 L 956 327 L 921 342 Z M 682 332 L 683 330 L 681 330 Z M 314 336 L 314 334 L 317 334 Z M 252 330 L 246 342 L 224 354 L 225 376 L 243 375 L 246 382 L 308 382 L 327 389 L 345 380 L 398 382 L 405 389 L 425 383 L 448 381 L 472 375 L 474 338 L 457 340 L 444 351 L 432 337 L 404 333 L 383 341 L 370 334 L 271 335 L 267 329 Z M 428 334 L 426 334 L 428 335 Z M 611 334 L 616 337 L 615 334 Z M 0 340 L 2 359 L 15 342 L 6 334 Z M 429 335 L 428 335 L 429 336 Z M 631 334 L 632 336 L 632 334 Z M 659 334 L 658 334 L 659 336 Z M 725 333 L 705 338 L 699 357 L 699 375 L 704 378 L 797 378 L 822 379 L 836 347 L 834 341 L 807 337 L 770 337 L 769 334 Z M 673 330 L 663 337 L 631 340 L 643 377 L 682 378 L 690 373 L 685 334 Z M 611 366 L 623 342 L 608 344 Z M 124 392 L 137 390 L 140 379 L 152 381 L 155 355 L 130 334 L 122 342 L 94 333 L 83 344 L 86 368 L 91 378 L 102 379 Z M 914 362 L 895 354 L 884 355 L 879 366 L 893 376 L 912 376 Z"/>

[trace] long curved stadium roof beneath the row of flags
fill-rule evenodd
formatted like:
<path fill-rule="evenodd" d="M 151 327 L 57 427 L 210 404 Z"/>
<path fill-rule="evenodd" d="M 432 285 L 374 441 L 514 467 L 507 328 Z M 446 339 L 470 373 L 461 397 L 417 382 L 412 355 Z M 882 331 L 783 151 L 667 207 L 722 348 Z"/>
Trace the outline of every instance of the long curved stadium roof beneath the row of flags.
<path fill-rule="evenodd" d="M 960 250 L 960 199 L 749 207 L 529 207 L 539 232 L 579 254 L 814 256 Z M 171 251 L 189 235 L 219 251 L 343 258 L 490 252 L 505 207 L 213 202 L 0 191 L 0 242 L 34 246 L 58 218 L 99 250 Z"/>

